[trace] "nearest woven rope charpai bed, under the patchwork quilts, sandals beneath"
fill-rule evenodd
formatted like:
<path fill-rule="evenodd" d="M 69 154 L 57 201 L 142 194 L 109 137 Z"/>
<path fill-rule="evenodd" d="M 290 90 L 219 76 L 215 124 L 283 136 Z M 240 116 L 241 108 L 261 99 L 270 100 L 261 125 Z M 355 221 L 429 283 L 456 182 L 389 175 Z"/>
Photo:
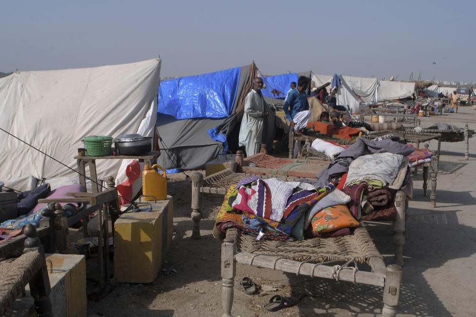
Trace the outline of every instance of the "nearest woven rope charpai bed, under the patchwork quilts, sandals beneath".
<path fill-rule="evenodd" d="M 221 211 L 226 210 L 227 202 L 228 196 L 225 196 Z M 257 241 L 250 235 L 240 234 L 237 228 L 229 228 L 221 253 L 222 316 L 232 316 L 236 263 L 384 287 L 382 315 L 396 315 L 401 267 L 396 264 L 385 266 L 367 230 L 361 225 L 347 236 L 294 242 Z M 357 263 L 370 265 L 372 271 L 359 270 Z"/>

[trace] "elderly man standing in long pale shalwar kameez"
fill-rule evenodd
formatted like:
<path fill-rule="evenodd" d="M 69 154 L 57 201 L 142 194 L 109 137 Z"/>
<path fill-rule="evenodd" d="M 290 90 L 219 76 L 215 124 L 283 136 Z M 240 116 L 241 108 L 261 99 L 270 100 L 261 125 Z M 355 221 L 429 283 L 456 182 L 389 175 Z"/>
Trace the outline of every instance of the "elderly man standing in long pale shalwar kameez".
<path fill-rule="evenodd" d="M 259 153 L 263 136 L 263 118 L 268 115 L 266 102 L 264 101 L 261 89 L 263 79 L 255 77 L 253 79 L 253 89 L 246 95 L 244 102 L 244 114 L 239 128 L 238 143 L 246 148 L 246 156 Z"/>

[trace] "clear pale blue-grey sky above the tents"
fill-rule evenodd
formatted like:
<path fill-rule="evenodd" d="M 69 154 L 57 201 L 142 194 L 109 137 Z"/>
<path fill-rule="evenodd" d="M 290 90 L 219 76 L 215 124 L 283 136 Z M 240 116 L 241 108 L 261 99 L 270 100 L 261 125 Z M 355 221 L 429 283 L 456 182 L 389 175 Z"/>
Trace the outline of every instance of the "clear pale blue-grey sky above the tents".
<path fill-rule="evenodd" d="M 1 2 L 0 71 L 162 58 L 161 76 L 251 63 L 263 74 L 476 81 L 476 1 Z M 436 64 L 433 64 L 435 62 Z"/>

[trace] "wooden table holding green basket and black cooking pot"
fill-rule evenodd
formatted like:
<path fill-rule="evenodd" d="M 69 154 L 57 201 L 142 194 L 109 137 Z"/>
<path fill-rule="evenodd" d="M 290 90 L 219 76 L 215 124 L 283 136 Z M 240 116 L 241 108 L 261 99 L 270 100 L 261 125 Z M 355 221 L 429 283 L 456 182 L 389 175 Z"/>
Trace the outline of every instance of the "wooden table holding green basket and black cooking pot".
<path fill-rule="evenodd" d="M 92 157 L 92 156 L 75 156 L 78 163 L 78 172 L 79 172 L 79 184 L 83 185 L 86 188 L 86 166 L 89 165 L 90 179 L 92 181 L 92 191 L 93 193 L 99 193 L 99 184 L 98 184 L 98 175 L 96 171 L 96 160 L 97 159 L 138 159 L 139 162 L 145 162 L 152 166 L 157 163 L 157 158 L 160 156 L 160 152 L 152 151 L 143 155 L 108 155 L 104 157 Z"/>

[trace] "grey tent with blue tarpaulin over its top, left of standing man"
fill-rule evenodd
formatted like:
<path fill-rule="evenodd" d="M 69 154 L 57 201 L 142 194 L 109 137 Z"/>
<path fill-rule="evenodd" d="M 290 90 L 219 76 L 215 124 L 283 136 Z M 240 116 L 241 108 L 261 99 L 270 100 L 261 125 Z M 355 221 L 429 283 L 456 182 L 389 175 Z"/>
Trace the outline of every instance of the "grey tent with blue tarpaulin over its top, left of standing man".
<path fill-rule="evenodd" d="M 252 63 L 161 82 L 157 132 L 168 151 L 158 163 L 166 169 L 199 168 L 227 151 L 228 141 L 238 146 L 238 139 L 230 138 L 255 74 Z"/>

